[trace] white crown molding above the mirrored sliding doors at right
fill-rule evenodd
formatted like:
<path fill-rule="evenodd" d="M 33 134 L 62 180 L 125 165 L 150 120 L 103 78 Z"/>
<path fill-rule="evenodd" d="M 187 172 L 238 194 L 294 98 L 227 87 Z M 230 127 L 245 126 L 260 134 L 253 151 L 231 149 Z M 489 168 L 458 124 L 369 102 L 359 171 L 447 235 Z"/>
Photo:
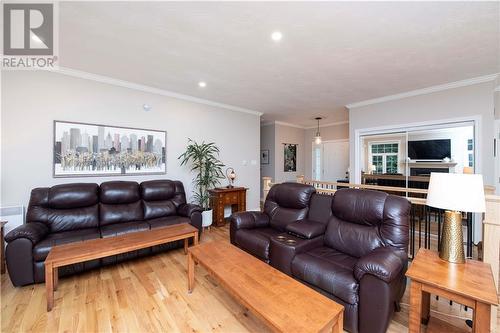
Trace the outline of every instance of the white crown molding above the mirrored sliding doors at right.
<path fill-rule="evenodd" d="M 361 101 L 361 102 L 347 104 L 346 108 L 348 108 L 348 109 L 358 108 L 361 106 L 367 106 L 367 105 L 378 104 L 378 103 L 383 103 L 383 102 L 388 102 L 388 101 L 394 101 L 394 100 L 403 99 L 403 98 L 407 98 L 407 97 L 432 94 L 432 93 L 435 93 L 438 91 L 466 87 L 466 86 L 470 86 L 470 85 L 478 84 L 478 83 L 490 82 L 490 81 L 496 80 L 497 76 L 498 76 L 498 73 L 484 75 L 484 76 L 479 76 L 479 77 L 475 77 L 472 79 L 450 82 L 450 83 L 440 84 L 437 86 L 431 86 L 428 88 L 407 91 L 407 92 L 400 93 L 400 94 L 368 99 L 368 100 Z"/>

